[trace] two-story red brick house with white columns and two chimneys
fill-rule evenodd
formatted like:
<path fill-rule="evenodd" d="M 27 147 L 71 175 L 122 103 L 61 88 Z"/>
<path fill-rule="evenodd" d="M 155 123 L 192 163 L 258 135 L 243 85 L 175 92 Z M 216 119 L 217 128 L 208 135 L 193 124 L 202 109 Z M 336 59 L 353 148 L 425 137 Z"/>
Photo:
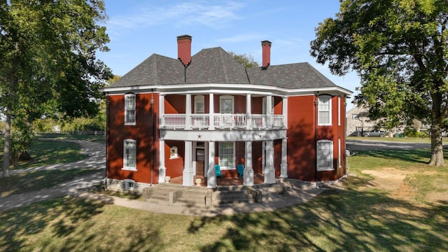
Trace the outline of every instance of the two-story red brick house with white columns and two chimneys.
<path fill-rule="evenodd" d="M 141 191 L 167 176 L 183 186 L 202 176 L 215 188 L 220 175 L 253 186 L 254 174 L 264 183 L 346 174 L 349 90 L 308 63 L 270 65 L 269 41 L 253 68 L 220 47 L 192 56 L 191 36 L 177 41 L 178 59 L 153 54 L 104 89 L 107 188 Z"/>

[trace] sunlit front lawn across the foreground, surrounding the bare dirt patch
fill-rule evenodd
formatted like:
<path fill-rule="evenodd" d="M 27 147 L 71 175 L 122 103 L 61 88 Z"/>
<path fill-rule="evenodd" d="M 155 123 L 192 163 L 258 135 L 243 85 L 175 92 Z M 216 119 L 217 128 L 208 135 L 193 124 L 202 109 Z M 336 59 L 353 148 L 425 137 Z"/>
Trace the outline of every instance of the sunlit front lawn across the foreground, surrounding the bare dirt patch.
<path fill-rule="evenodd" d="M 357 152 L 346 190 L 277 211 L 193 217 L 62 197 L 0 212 L 1 251 L 448 251 L 446 167 L 427 150 Z M 367 171 L 407 174 L 412 199 Z"/>

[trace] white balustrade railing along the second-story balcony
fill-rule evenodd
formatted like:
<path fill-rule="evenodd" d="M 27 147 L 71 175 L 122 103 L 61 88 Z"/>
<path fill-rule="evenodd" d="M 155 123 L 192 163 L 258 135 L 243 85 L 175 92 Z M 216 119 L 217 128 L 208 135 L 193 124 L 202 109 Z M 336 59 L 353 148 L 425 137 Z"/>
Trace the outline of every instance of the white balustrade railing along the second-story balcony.
<path fill-rule="evenodd" d="M 161 127 L 173 130 L 264 130 L 285 129 L 283 115 L 263 114 L 165 114 L 162 115 Z"/>

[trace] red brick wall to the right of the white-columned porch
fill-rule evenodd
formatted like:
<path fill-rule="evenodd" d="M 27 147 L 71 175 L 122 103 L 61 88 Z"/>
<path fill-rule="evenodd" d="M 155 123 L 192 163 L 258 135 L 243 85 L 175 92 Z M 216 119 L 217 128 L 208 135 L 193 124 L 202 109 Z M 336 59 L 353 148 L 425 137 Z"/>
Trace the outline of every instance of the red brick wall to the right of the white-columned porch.
<path fill-rule="evenodd" d="M 317 172 L 318 181 L 335 181 L 344 176 L 345 170 L 345 107 L 340 98 L 338 113 L 337 97 L 332 97 L 332 125 L 317 126 L 314 95 L 288 98 L 288 176 L 304 181 L 316 181 L 316 140 L 333 141 L 333 171 Z M 337 116 L 341 125 L 338 125 Z M 339 168 L 339 145 L 341 139 L 341 165 Z"/>

